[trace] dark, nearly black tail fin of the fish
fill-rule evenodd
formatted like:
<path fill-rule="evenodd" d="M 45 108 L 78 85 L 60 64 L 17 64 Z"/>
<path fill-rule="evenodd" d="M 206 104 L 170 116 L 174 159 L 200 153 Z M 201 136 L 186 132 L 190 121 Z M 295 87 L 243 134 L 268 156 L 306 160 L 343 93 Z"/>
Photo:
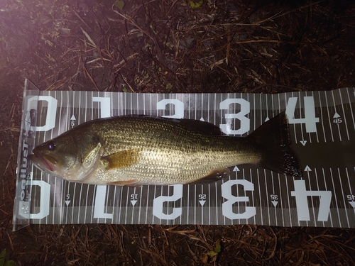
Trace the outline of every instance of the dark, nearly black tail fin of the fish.
<path fill-rule="evenodd" d="M 297 155 L 293 152 L 288 134 L 288 118 L 279 113 L 249 135 L 260 149 L 261 167 L 280 174 L 302 177 Z"/>

